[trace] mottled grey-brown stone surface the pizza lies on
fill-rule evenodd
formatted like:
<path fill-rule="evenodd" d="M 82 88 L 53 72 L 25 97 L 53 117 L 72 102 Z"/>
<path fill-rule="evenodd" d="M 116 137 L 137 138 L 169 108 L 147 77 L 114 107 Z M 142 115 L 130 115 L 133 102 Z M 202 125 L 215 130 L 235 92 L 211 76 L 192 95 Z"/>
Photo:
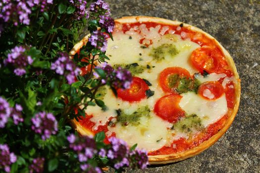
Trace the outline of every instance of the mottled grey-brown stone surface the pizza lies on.
<path fill-rule="evenodd" d="M 231 54 L 242 84 L 238 114 L 212 147 L 182 162 L 128 173 L 260 172 L 260 1 L 107 0 L 112 16 L 146 15 L 203 29 Z M 112 170 L 110 171 L 112 172 Z"/>

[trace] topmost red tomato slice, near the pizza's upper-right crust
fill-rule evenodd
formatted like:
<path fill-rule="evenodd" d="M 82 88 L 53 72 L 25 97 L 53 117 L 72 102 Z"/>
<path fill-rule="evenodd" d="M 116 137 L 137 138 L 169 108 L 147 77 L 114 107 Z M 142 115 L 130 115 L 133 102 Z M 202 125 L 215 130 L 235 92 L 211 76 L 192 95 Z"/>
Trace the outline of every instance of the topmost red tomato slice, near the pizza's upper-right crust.
<path fill-rule="evenodd" d="M 201 73 L 205 70 L 208 73 L 213 73 L 218 68 L 217 51 L 210 47 L 200 47 L 194 50 L 191 54 L 191 63 Z"/>

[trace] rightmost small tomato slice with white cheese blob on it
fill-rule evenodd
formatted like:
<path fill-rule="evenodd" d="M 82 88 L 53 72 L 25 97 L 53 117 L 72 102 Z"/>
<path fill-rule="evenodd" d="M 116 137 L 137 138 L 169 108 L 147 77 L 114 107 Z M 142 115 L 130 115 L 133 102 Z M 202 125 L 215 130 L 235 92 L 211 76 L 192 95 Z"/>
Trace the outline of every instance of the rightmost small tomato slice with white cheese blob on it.
<path fill-rule="evenodd" d="M 224 93 L 224 88 L 219 82 L 209 81 L 200 85 L 198 93 L 207 100 L 215 100 Z"/>

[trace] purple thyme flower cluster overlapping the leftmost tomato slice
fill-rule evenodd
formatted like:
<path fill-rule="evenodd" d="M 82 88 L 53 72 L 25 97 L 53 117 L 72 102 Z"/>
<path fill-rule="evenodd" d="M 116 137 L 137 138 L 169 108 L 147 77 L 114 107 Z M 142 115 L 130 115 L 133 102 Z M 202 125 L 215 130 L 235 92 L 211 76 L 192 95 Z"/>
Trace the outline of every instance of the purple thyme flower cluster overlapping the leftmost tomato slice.
<path fill-rule="evenodd" d="M 123 89 L 130 87 L 132 82 L 132 74 L 128 70 L 122 69 L 121 67 L 118 67 L 117 70 L 115 70 L 106 62 L 104 62 L 101 67 L 96 68 L 103 69 L 106 75 L 105 78 L 102 78 L 101 80 L 102 84 L 108 83 L 115 88 Z M 94 73 L 94 76 L 96 78 L 101 78 L 96 72 Z"/>

